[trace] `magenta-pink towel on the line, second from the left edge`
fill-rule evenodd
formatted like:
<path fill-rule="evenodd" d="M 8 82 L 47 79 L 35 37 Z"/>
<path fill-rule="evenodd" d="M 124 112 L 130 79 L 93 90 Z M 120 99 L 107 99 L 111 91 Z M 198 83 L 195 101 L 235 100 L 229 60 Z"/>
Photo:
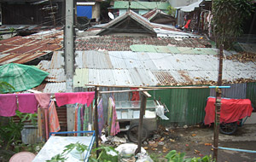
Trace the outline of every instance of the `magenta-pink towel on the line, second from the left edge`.
<path fill-rule="evenodd" d="M 21 113 L 36 113 L 38 102 L 34 94 L 17 94 Z"/>

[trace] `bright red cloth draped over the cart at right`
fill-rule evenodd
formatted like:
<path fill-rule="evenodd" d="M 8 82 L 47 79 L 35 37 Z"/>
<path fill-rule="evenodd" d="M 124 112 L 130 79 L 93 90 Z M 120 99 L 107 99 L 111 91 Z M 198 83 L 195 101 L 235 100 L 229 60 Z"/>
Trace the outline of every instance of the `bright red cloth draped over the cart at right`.
<path fill-rule="evenodd" d="M 205 108 L 205 124 L 214 123 L 215 98 L 209 97 Z M 232 123 L 251 116 L 253 107 L 249 99 L 221 99 L 220 123 Z"/>

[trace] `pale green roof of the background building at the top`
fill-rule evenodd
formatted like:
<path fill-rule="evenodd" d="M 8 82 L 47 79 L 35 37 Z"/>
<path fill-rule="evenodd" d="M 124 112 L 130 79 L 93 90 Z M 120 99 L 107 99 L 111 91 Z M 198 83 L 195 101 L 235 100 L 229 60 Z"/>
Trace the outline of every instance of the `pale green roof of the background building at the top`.
<path fill-rule="evenodd" d="M 141 1 L 132 1 L 130 8 L 131 9 L 163 9 L 167 10 L 169 3 L 163 2 L 141 2 Z M 128 1 L 115 1 L 113 4 L 113 9 L 128 9 L 129 2 Z"/>

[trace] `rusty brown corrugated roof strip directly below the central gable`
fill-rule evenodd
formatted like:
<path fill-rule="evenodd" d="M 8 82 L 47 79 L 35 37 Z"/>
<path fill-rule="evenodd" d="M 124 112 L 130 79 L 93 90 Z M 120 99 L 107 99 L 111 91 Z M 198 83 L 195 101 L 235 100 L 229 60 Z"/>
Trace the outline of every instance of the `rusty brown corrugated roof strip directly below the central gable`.
<path fill-rule="evenodd" d="M 133 44 L 147 44 L 155 46 L 176 46 L 206 48 L 212 47 L 205 38 L 152 38 L 152 37 L 125 37 L 125 36 L 102 36 L 80 38 L 76 42 L 78 51 L 84 50 L 108 50 L 108 51 L 128 51 Z M 169 48 L 169 47 L 168 47 Z"/>

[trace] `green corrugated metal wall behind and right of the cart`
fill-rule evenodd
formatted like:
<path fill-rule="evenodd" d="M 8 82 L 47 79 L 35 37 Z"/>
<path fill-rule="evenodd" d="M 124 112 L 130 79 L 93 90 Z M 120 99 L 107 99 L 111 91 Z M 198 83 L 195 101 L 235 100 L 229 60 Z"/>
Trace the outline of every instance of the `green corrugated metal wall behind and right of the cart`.
<path fill-rule="evenodd" d="M 193 125 L 203 121 L 205 116 L 204 108 L 209 89 L 172 89 L 154 90 L 149 93 L 162 103 L 166 104 L 169 113 L 166 116 L 169 120 L 161 120 L 160 124 L 183 126 Z"/>

